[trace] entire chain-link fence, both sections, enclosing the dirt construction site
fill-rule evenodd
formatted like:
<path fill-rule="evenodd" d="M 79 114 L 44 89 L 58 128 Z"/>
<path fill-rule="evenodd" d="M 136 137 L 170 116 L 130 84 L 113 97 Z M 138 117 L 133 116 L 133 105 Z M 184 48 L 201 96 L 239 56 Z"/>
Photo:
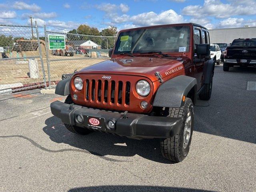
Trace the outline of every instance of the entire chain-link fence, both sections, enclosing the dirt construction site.
<path fill-rule="evenodd" d="M 43 33 L 43 31 L 41 31 Z M 38 27 L 0 24 L 0 95 L 52 88 L 74 71 L 109 59 L 116 37 L 69 34 Z M 50 50 L 48 35 L 64 35 L 65 49 Z M 51 83 L 49 83 L 51 82 Z"/>

